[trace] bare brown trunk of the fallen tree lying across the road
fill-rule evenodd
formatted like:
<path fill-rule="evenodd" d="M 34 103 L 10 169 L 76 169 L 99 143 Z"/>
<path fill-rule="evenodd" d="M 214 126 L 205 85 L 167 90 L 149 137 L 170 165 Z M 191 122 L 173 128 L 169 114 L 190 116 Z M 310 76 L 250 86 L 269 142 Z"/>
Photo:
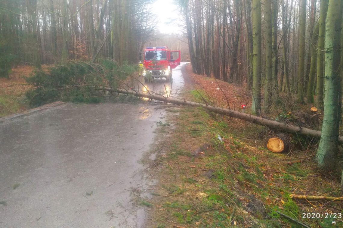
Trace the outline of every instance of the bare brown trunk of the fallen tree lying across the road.
<path fill-rule="evenodd" d="M 162 102 L 172 103 L 172 104 L 176 104 L 176 105 L 189 105 L 189 106 L 194 106 L 194 107 L 202 107 L 202 108 L 208 109 L 208 110 L 213 111 L 213 112 L 218 113 L 218 114 L 238 118 L 241 120 L 245 120 L 245 121 L 256 123 L 256 124 L 263 125 L 263 126 L 268 126 L 269 128 L 281 130 L 281 131 L 286 132 L 286 133 L 297 133 L 300 135 L 310 136 L 310 137 L 314 137 L 314 138 L 320 138 L 320 136 L 321 136 L 320 131 L 312 130 L 309 128 L 301 128 L 300 126 L 295 126 L 295 125 L 291 125 L 291 124 L 287 124 L 287 123 L 268 120 L 268 119 L 265 119 L 262 117 L 250 115 L 248 113 L 243 113 L 243 112 L 239 112 L 239 111 L 234 111 L 234 110 L 230 110 L 230 109 L 216 107 L 216 106 L 212 106 L 212 105 L 208 105 L 208 104 L 201 104 L 201 103 L 197 103 L 197 102 L 190 102 L 188 100 L 181 100 L 181 99 L 176 99 L 176 98 L 171 98 L 171 97 L 164 97 L 164 96 L 158 95 L 158 94 L 139 93 L 139 92 L 134 92 L 134 91 L 131 92 L 131 91 L 126 91 L 126 90 L 121 90 L 121 89 L 100 88 L 99 90 L 129 94 L 129 95 L 137 96 L 137 97 L 145 97 L 145 98 L 160 100 Z M 342 136 L 338 137 L 338 142 L 340 144 L 343 144 L 343 137 Z"/>

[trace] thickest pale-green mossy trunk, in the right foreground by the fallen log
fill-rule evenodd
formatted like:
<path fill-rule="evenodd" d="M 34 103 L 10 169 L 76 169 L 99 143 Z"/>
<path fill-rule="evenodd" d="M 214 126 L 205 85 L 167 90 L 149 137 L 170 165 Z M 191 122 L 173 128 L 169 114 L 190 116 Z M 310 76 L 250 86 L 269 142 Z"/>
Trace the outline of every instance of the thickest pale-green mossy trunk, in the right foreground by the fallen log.
<path fill-rule="evenodd" d="M 341 0 L 329 0 L 325 34 L 325 96 L 322 134 L 316 154 L 318 166 L 333 170 L 338 150 L 340 93 Z"/>

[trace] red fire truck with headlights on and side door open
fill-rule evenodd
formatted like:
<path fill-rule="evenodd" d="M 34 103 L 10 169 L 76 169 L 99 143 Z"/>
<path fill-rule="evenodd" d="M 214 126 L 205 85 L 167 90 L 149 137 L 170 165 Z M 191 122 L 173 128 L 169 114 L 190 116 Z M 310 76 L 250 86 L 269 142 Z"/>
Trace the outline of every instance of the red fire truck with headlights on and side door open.
<path fill-rule="evenodd" d="M 170 51 L 167 46 L 146 47 L 144 51 L 144 81 L 166 78 L 171 81 L 172 70 L 180 65 L 180 51 Z"/>

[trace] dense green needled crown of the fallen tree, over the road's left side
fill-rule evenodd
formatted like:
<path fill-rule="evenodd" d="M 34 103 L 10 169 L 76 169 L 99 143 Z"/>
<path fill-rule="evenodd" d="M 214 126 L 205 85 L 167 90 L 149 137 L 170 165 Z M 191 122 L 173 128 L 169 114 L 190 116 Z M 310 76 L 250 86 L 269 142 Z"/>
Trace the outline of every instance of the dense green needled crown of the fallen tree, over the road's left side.
<path fill-rule="evenodd" d="M 29 84 L 35 86 L 26 92 L 26 97 L 32 106 L 56 100 L 99 103 L 104 95 L 109 95 L 109 92 L 99 88 L 118 88 L 119 81 L 137 70 L 137 66 L 118 66 L 108 58 L 100 59 L 98 64 L 67 63 L 51 67 L 48 72 L 36 70 L 26 78 Z"/>

